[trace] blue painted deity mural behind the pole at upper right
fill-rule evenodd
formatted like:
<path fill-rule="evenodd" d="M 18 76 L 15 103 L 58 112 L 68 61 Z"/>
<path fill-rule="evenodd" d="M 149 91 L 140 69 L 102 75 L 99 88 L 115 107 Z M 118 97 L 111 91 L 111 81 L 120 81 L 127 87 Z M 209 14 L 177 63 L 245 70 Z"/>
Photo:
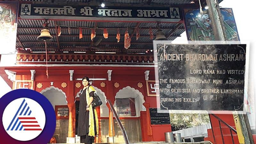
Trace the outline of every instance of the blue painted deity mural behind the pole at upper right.
<path fill-rule="evenodd" d="M 239 41 L 236 21 L 231 8 L 220 8 L 229 41 Z M 190 41 L 215 41 L 212 21 L 207 10 L 201 15 L 199 9 L 184 9 L 185 28 Z"/>

